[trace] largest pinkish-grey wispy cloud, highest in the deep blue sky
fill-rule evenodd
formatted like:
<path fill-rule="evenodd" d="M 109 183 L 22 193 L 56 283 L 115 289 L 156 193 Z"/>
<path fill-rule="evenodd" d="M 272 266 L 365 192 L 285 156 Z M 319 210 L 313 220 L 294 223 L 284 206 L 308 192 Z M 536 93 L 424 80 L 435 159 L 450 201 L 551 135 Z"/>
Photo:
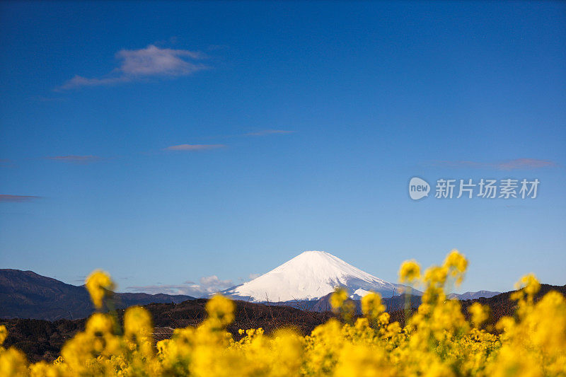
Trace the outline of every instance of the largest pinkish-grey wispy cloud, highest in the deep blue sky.
<path fill-rule="evenodd" d="M 209 68 L 200 62 L 207 57 L 202 52 L 174 50 L 155 45 L 140 50 L 120 50 L 115 57 L 120 61 L 120 66 L 110 74 L 92 78 L 76 75 L 57 89 L 106 86 L 160 76 L 187 76 Z"/>

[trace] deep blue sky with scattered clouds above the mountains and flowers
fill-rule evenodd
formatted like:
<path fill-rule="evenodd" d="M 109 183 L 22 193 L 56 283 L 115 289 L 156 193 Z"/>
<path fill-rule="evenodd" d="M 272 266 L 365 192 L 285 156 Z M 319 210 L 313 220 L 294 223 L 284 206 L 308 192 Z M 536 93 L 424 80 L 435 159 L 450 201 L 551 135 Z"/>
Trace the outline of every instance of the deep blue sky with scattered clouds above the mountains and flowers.
<path fill-rule="evenodd" d="M 565 15 L 3 2 L 0 267 L 190 293 L 304 250 L 395 282 L 403 260 L 458 248 L 461 291 L 527 272 L 565 284 Z M 412 201 L 413 176 L 541 184 L 536 199 Z"/>

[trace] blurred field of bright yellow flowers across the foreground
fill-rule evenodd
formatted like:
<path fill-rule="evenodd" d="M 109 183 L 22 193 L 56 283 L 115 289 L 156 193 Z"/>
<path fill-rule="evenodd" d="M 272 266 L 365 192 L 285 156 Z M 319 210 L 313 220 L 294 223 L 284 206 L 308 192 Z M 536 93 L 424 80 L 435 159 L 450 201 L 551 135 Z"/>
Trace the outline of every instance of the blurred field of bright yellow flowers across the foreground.
<path fill-rule="evenodd" d="M 416 262 L 404 262 L 400 282 L 424 289 L 405 327 L 390 322 L 379 294 L 362 298 L 364 317 L 354 321 L 346 292 L 337 289 L 331 301 L 342 321 L 328 320 L 306 337 L 291 329 L 270 336 L 240 330 L 246 336 L 236 342 L 226 332 L 234 304 L 214 296 L 199 327 L 177 329 L 157 344 L 149 313 L 132 307 L 123 326 L 115 313 L 92 315 L 53 363 L 30 365 L 22 352 L 0 347 L 0 376 L 566 376 L 565 298 L 551 291 L 535 303 L 540 285 L 526 275 L 513 296 L 514 318 L 485 329 L 488 308 L 470 306 L 468 322 L 460 303 L 446 298 L 467 265 L 456 250 L 424 274 Z M 114 284 L 97 271 L 86 287 L 102 308 Z M 0 327 L 0 344 L 6 335 Z"/>

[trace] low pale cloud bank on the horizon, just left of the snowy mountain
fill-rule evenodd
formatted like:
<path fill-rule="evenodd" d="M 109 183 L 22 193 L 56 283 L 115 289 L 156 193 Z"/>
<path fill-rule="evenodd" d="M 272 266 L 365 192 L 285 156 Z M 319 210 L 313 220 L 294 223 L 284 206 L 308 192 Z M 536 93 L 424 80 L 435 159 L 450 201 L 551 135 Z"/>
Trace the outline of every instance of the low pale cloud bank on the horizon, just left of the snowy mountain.
<path fill-rule="evenodd" d="M 146 286 L 128 286 L 127 289 L 148 294 L 185 294 L 203 297 L 233 286 L 231 280 L 221 280 L 216 275 L 201 277 L 199 284 L 185 282 L 183 284 L 154 284 Z"/>

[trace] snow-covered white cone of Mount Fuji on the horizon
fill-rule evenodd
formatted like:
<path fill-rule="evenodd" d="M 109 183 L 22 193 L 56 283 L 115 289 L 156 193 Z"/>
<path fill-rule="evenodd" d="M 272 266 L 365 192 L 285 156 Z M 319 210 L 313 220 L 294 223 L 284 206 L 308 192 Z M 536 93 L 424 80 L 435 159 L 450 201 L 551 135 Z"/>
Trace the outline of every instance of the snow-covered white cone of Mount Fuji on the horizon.
<path fill-rule="evenodd" d="M 374 277 L 330 253 L 305 251 L 267 274 L 221 294 L 255 302 L 311 301 L 326 296 L 337 286 L 347 289 L 354 299 L 370 291 L 391 297 L 407 288 Z"/>

